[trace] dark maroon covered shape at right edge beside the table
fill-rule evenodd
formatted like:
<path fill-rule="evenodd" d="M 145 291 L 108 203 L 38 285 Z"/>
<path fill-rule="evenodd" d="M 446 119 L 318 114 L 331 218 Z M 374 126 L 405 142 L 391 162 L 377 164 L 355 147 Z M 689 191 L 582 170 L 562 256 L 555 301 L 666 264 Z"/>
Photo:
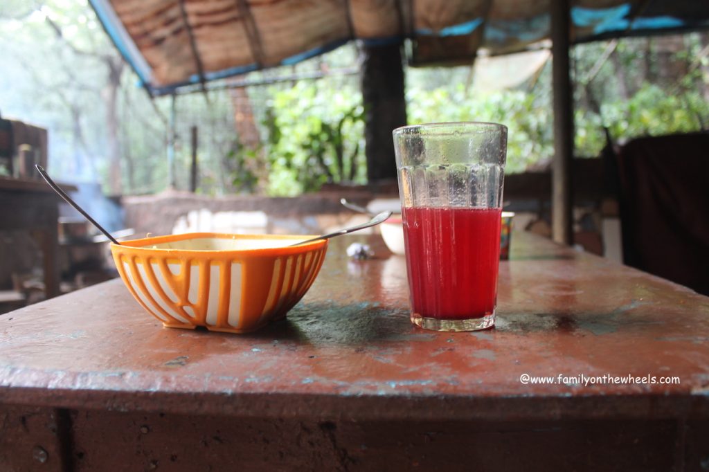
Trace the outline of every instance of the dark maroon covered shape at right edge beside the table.
<path fill-rule="evenodd" d="M 709 295 L 709 134 L 632 140 L 618 175 L 625 264 Z"/>

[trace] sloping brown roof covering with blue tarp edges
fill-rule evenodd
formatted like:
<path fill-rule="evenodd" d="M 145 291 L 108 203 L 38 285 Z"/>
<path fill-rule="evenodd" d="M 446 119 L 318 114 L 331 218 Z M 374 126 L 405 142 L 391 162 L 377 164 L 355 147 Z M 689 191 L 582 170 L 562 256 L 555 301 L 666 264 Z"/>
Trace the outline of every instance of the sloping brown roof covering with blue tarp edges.
<path fill-rule="evenodd" d="M 358 38 L 411 38 L 412 64 L 470 62 L 549 36 L 550 0 L 90 0 L 154 94 L 294 64 Z M 699 0 L 571 1 L 579 43 L 709 26 Z"/>

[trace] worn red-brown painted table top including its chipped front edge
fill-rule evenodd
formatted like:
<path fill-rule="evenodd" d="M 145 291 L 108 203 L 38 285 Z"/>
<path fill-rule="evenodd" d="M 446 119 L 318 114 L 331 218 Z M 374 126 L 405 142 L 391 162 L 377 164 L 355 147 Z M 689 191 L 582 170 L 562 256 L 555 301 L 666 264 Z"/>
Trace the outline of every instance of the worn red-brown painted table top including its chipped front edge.
<path fill-rule="evenodd" d="M 362 240 L 377 259 L 347 259 Z M 164 329 L 120 280 L 85 288 L 0 316 L 0 402 L 260 417 L 709 417 L 709 298 L 529 233 L 512 245 L 497 326 L 474 333 L 411 325 L 406 262 L 378 236 L 333 240 L 287 320 L 250 335 Z M 581 374 L 680 383 L 558 380 Z"/>

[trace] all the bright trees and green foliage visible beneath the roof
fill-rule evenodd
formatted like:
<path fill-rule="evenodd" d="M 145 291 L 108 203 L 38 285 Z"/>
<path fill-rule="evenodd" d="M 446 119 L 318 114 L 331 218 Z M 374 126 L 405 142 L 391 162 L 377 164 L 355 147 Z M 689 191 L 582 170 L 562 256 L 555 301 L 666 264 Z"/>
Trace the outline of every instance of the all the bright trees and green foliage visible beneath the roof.
<path fill-rule="evenodd" d="M 58 34 L 61 33 L 61 34 Z M 688 132 L 709 126 L 707 33 L 676 38 L 681 48 L 661 50 L 661 40 L 628 38 L 598 69 L 608 43 L 574 48 L 576 155 L 596 156 L 605 145 L 603 127 L 616 140 Z M 353 44 L 297 64 L 291 72 L 351 67 Z M 0 1 L 0 74 L 3 115 L 49 129 L 50 167 L 59 179 L 108 181 L 106 137 L 107 58 L 117 59 L 86 0 Z M 279 72 L 275 72 L 278 74 Z M 248 79 L 274 71 L 254 72 Z M 547 65 L 533 84 L 485 91 L 469 86 L 469 67 L 406 70 L 409 123 L 494 121 L 509 128 L 508 173 L 523 172 L 553 153 L 551 77 Z M 167 186 L 169 98 L 150 102 L 123 67 L 116 132 L 125 193 L 151 193 Z M 364 123 L 357 77 L 250 87 L 250 106 L 263 137 L 247 149 L 235 137 L 229 91 L 180 96 L 175 162 L 178 189 L 189 181 L 189 128 L 199 126 L 200 189 L 219 195 L 267 191 L 290 196 L 325 182 L 364 184 Z M 600 103 L 597 107 L 596 103 Z M 116 128 L 115 126 L 113 128 Z"/>

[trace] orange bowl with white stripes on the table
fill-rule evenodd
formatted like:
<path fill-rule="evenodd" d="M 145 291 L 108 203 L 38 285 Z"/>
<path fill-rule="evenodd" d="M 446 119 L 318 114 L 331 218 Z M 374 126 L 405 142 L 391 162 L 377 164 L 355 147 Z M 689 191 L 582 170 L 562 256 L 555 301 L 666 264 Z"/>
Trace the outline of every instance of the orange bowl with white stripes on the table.
<path fill-rule="evenodd" d="M 111 244 L 135 300 L 165 327 L 250 332 L 284 318 L 315 281 L 327 240 L 211 232 Z"/>

